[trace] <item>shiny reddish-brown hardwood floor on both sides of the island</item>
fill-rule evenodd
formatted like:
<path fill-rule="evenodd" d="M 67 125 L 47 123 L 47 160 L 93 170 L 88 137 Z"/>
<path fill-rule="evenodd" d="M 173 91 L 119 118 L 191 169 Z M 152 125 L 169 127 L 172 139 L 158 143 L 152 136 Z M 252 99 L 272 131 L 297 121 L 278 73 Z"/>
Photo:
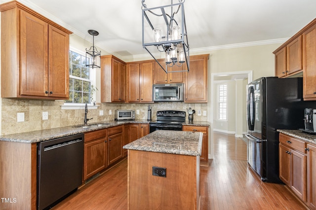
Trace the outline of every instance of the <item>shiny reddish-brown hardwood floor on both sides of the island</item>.
<path fill-rule="evenodd" d="M 214 132 L 214 159 L 200 168 L 200 210 L 299 210 L 285 185 L 265 183 L 247 164 L 246 143 Z M 127 159 L 95 178 L 53 210 L 126 210 Z"/>

